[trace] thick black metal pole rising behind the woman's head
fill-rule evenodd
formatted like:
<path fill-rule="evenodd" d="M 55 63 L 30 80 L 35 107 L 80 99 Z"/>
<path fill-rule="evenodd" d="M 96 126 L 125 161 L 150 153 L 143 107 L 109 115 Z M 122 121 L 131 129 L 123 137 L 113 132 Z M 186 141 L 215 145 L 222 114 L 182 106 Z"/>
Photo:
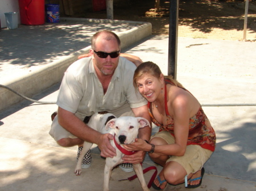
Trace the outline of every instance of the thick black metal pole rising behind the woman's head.
<path fill-rule="evenodd" d="M 170 0 L 168 75 L 176 79 L 177 73 L 177 31 L 179 19 L 179 0 Z"/>

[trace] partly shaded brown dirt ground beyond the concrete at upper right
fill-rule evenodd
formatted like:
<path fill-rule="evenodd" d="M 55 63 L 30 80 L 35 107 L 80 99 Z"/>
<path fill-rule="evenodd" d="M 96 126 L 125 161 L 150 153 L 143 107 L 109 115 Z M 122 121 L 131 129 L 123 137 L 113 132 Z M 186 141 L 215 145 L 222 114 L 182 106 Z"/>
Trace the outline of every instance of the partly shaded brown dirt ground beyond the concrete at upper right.
<path fill-rule="evenodd" d="M 170 2 L 160 0 L 160 12 L 153 0 L 114 1 L 115 20 L 152 23 L 154 35 L 168 35 Z M 245 2 L 181 0 L 179 2 L 179 37 L 243 40 Z M 106 11 L 90 12 L 85 18 L 106 18 Z M 249 1 L 247 41 L 256 41 L 256 2 Z"/>

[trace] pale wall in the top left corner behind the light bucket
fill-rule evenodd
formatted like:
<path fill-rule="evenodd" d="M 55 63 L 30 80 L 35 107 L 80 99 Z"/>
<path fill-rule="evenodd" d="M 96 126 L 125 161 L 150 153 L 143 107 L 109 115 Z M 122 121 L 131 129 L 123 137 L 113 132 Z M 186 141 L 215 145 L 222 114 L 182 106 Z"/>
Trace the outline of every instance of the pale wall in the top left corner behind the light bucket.
<path fill-rule="evenodd" d="M 18 0 L 0 0 L 1 28 L 6 27 L 5 12 L 19 12 L 19 1 Z M 18 24 L 20 24 L 19 14 L 18 14 Z"/>

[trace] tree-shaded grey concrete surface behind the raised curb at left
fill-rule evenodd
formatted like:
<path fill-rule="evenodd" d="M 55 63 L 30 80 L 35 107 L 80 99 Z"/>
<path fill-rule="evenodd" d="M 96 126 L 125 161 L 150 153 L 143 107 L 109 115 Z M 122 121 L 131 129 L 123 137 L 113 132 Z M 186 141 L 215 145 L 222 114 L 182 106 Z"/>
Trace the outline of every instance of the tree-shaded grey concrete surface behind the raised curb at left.
<path fill-rule="evenodd" d="M 15 30 L 2 29 L 0 71 L 5 64 L 15 67 L 46 65 L 90 45 L 92 35 L 100 29 L 114 32 L 131 29 L 133 24 L 67 22 L 42 26 L 20 25 Z"/>

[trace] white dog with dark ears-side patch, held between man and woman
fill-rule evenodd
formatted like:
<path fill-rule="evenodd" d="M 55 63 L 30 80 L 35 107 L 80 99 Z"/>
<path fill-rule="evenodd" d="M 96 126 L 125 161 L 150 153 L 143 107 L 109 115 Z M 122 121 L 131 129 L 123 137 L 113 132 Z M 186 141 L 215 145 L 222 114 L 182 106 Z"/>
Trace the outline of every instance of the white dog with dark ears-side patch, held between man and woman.
<path fill-rule="evenodd" d="M 112 119 L 108 121 L 109 118 Z M 125 155 L 118 149 L 118 147 L 122 147 L 122 144 L 133 143 L 135 138 L 137 138 L 139 128 L 150 126 L 150 123 L 143 117 L 114 118 L 113 114 L 111 113 L 95 113 L 92 115 L 92 117 L 90 117 L 88 126 L 97 131 L 100 131 L 101 133 L 110 133 L 114 135 L 115 141 L 111 140 L 110 143 L 114 148 L 116 148 L 117 156 L 114 156 L 114 158 L 106 158 L 104 169 L 104 191 L 107 191 L 109 190 L 109 179 L 112 173 L 112 169 L 116 165 L 123 162 L 122 157 Z M 86 152 L 89 151 L 90 147 L 92 147 L 92 145 L 92 143 L 84 142 L 84 146 L 75 169 L 76 175 L 81 174 L 82 159 L 84 158 Z M 122 147 L 121 149 L 124 148 Z M 141 164 L 133 164 L 133 167 L 139 181 L 141 182 L 143 190 L 148 191 L 149 189 L 147 188 L 146 181 L 144 180 Z"/>

